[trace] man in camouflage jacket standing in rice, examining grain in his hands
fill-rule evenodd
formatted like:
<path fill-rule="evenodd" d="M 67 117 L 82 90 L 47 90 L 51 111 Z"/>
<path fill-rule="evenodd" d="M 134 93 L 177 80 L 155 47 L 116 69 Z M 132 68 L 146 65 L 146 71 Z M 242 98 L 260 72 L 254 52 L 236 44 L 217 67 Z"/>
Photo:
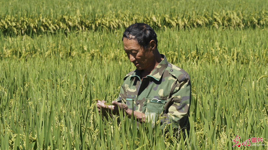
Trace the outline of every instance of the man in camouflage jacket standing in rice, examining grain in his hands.
<path fill-rule="evenodd" d="M 129 26 L 122 37 L 128 59 L 136 66 L 129 72 L 120 88 L 120 94 L 111 106 L 98 101 L 100 113 L 116 115 L 119 109 L 140 123 L 151 120 L 156 115 L 162 117 L 160 123 L 173 123 L 177 129 L 189 131 L 188 120 L 191 103 L 191 82 L 183 69 L 169 63 L 157 50 L 157 35 L 145 23 Z"/>

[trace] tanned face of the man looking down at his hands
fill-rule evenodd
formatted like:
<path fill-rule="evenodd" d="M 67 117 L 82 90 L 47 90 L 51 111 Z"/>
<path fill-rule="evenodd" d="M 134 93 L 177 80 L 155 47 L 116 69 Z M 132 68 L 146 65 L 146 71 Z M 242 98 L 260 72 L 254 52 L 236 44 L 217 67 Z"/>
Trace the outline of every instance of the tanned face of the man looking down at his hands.
<path fill-rule="evenodd" d="M 152 51 L 144 50 L 134 39 L 123 39 L 124 50 L 128 59 L 136 66 L 138 70 L 147 69 L 152 63 Z"/>

